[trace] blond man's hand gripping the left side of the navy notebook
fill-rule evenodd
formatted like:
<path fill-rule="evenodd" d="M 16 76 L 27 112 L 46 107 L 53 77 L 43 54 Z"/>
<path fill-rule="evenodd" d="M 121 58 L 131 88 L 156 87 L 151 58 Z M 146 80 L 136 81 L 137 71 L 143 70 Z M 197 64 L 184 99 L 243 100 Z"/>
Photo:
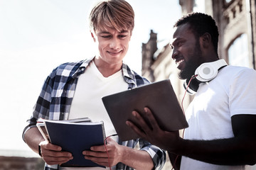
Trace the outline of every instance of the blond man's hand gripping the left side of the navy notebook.
<path fill-rule="evenodd" d="M 46 141 L 41 142 L 39 145 L 41 146 L 42 158 L 48 165 L 63 164 L 73 159 L 70 152 L 62 152 L 61 147 L 57 145 L 50 144 Z"/>

